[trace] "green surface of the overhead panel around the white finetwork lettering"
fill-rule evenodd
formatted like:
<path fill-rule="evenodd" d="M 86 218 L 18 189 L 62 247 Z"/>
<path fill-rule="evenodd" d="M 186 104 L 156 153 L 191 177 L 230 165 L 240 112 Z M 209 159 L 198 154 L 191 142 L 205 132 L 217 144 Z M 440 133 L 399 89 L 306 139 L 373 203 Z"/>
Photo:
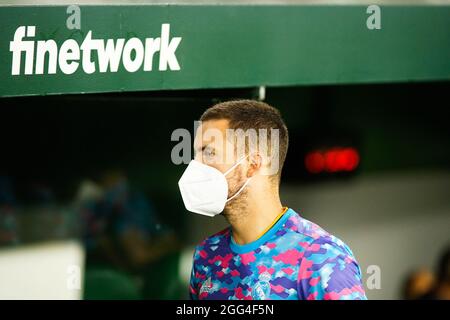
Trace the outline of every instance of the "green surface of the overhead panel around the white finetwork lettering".
<path fill-rule="evenodd" d="M 450 6 L 382 6 L 369 30 L 366 6 L 82 6 L 81 29 L 65 6 L 0 8 L 0 96 L 190 88 L 237 88 L 450 79 Z M 19 26 L 31 40 L 182 37 L 181 70 L 11 75 Z M 28 39 L 28 38 L 25 38 Z M 155 61 L 158 56 L 155 57 Z M 93 57 L 95 60 L 95 56 Z M 23 66 L 22 66 L 23 69 Z"/>

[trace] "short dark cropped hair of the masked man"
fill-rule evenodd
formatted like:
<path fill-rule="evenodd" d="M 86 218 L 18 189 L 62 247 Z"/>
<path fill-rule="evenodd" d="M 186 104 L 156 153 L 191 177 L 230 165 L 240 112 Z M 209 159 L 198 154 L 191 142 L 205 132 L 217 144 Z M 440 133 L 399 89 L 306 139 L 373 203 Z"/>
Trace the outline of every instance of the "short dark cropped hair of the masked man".
<path fill-rule="evenodd" d="M 278 181 L 289 145 L 289 134 L 280 111 L 269 104 L 257 100 L 231 100 L 218 103 L 208 108 L 200 117 L 200 121 L 228 120 L 230 129 L 256 130 L 267 129 L 268 141 L 271 141 L 271 129 L 279 132 L 279 170 Z"/>

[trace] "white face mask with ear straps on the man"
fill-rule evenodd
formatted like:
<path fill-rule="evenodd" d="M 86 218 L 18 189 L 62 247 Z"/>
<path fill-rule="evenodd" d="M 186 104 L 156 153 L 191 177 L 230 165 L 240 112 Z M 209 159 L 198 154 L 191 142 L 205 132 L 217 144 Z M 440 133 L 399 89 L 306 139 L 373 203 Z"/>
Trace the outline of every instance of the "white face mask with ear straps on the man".
<path fill-rule="evenodd" d="M 228 197 L 228 182 L 225 176 L 236 168 L 247 156 L 241 158 L 225 173 L 203 164 L 197 160 L 191 160 L 184 171 L 178 186 L 184 206 L 188 211 L 214 217 L 223 211 L 225 204 L 238 196 L 251 178 L 232 197 Z"/>

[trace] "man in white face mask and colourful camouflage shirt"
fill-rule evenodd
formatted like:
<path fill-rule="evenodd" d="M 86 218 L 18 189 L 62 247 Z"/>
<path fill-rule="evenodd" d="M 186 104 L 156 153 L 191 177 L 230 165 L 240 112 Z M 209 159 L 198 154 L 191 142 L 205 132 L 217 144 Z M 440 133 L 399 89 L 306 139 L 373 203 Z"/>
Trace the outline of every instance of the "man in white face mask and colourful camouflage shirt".
<path fill-rule="evenodd" d="M 230 227 L 196 247 L 190 297 L 366 299 L 351 250 L 280 201 L 288 131 L 279 111 L 236 100 L 207 109 L 200 120 L 180 191 L 188 210 L 221 213 Z"/>

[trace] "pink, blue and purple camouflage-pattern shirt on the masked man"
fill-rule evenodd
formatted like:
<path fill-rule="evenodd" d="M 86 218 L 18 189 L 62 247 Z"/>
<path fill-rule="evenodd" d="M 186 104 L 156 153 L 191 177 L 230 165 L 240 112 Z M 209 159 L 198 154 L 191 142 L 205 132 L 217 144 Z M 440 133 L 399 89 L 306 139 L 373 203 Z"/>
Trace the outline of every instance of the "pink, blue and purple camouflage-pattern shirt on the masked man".
<path fill-rule="evenodd" d="M 193 256 L 191 299 L 366 300 L 350 248 L 318 225 L 287 212 L 258 240 L 238 245 L 226 228 Z"/>

